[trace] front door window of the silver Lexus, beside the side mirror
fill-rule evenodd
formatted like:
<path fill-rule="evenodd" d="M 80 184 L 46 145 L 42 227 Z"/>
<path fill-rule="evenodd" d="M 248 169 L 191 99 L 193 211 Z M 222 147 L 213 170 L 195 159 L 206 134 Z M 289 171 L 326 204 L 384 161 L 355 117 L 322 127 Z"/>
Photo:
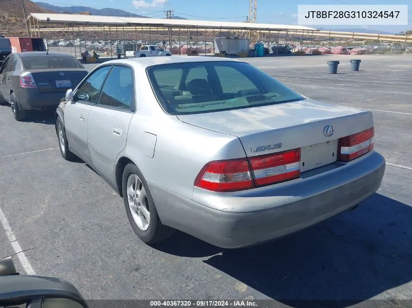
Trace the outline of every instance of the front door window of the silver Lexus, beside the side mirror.
<path fill-rule="evenodd" d="M 76 98 L 81 101 L 96 104 L 100 88 L 111 68 L 111 66 L 105 66 L 93 72 L 76 91 Z"/>

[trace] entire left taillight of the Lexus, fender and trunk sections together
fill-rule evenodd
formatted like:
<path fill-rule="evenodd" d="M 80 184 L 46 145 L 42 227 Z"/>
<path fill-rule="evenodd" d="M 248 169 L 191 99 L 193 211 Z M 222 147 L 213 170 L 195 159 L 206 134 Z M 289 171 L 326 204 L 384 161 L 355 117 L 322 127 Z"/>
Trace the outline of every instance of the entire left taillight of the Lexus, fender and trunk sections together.
<path fill-rule="evenodd" d="M 216 192 L 228 192 L 289 181 L 299 176 L 300 148 L 249 160 L 207 163 L 197 175 L 195 186 Z"/>

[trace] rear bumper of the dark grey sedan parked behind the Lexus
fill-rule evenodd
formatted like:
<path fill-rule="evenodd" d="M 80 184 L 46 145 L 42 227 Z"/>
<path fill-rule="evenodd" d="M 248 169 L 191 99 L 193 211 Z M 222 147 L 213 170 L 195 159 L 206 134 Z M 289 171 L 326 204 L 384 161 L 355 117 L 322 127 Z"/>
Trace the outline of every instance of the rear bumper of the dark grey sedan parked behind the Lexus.
<path fill-rule="evenodd" d="M 38 89 L 20 89 L 16 92 L 20 108 L 57 108 L 65 92 L 40 92 Z"/>

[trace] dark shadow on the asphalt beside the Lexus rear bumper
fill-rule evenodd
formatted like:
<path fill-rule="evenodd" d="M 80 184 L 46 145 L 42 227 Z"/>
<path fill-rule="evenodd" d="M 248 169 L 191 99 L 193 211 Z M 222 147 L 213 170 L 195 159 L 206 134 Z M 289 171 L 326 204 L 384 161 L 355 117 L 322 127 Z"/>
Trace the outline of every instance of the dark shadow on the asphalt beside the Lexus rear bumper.
<path fill-rule="evenodd" d="M 157 249 L 187 256 L 213 252 L 205 263 L 295 308 L 343 308 L 412 280 L 411 221 L 411 206 L 374 194 L 352 212 L 272 243 L 214 250 L 177 235 Z"/>

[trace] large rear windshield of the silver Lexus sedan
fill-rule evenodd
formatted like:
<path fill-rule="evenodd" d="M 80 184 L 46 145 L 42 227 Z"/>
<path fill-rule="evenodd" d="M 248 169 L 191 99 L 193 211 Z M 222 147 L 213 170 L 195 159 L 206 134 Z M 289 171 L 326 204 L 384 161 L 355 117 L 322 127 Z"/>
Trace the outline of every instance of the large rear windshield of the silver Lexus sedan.
<path fill-rule="evenodd" d="M 242 62 L 191 62 L 152 66 L 149 79 L 169 114 L 194 114 L 282 104 L 305 99 Z"/>

